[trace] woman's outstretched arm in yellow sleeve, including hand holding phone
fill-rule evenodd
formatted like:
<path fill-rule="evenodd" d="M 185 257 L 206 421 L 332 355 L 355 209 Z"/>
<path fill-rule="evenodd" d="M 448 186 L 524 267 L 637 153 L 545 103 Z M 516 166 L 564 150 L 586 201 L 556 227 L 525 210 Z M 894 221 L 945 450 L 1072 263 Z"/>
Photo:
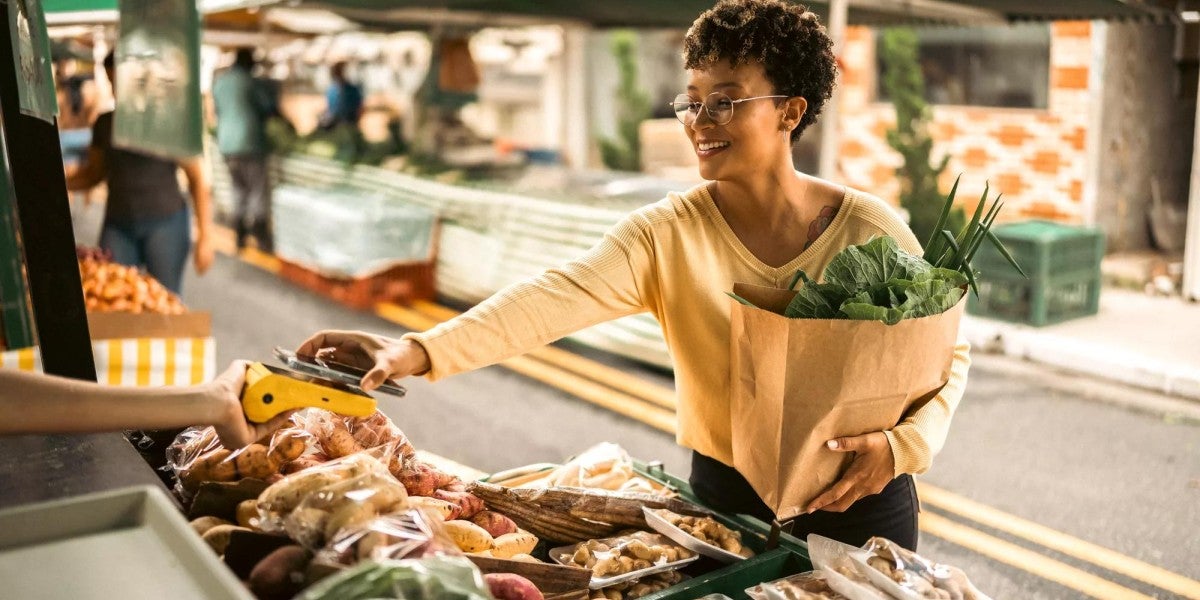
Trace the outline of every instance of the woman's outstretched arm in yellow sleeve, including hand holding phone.
<path fill-rule="evenodd" d="M 364 386 L 384 377 L 440 379 L 503 361 L 587 326 L 647 310 L 655 294 L 649 223 L 635 214 L 582 258 L 512 284 L 470 311 L 400 342 L 361 332 L 323 331 L 299 349 L 372 368 Z"/>

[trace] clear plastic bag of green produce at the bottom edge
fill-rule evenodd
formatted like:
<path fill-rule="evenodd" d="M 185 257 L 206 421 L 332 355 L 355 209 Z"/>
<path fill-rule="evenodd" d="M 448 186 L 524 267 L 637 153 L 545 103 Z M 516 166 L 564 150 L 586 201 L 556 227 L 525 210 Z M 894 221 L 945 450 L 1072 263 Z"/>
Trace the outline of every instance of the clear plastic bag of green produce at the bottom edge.
<path fill-rule="evenodd" d="M 366 560 L 296 596 L 298 600 L 492 600 L 484 576 L 464 557 Z"/>

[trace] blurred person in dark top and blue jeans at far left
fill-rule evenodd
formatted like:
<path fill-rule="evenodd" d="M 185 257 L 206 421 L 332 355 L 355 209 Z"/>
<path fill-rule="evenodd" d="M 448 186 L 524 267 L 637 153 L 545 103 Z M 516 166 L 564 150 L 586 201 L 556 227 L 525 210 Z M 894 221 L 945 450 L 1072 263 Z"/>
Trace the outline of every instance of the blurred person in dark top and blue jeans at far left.
<path fill-rule="evenodd" d="M 115 82 L 112 53 L 104 58 L 104 71 L 108 80 Z M 203 275 L 212 264 L 209 235 L 212 208 L 200 158 L 174 161 L 113 146 L 113 113 L 108 112 L 92 126 L 84 163 L 67 178 L 71 191 L 108 184 L 100 246 L 118 263 L 144 266 L 176 294 L 182 287 L 184 265 L 192 244 L 187 199 L 176 179 L 180 168 L 187 176 L 196 208 L 194 262 L 196 271 Z"/>

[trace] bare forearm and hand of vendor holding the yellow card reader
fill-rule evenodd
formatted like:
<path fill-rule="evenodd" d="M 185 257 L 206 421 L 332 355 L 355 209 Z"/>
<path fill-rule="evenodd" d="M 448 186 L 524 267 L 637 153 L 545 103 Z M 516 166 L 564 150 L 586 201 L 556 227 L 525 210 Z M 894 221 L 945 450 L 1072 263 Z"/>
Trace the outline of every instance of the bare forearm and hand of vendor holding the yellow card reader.
<path fill-rule="evenodd" d="M 246 364 L 187 388 L 118 388 L 62 377 L 0 370 L 0 434 L 94 433 L 212 425 L 226 448 L 241 448 L 282 426 L 284 413 L 262 425 L 246 420 L 241 388 Z"/>

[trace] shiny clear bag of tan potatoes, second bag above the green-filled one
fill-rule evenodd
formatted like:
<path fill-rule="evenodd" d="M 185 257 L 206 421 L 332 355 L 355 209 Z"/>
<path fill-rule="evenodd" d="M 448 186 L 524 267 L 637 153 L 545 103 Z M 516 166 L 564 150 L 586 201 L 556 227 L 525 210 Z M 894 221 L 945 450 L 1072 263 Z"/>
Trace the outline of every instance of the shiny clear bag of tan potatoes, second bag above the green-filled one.
<path fill-rule="evenodd" d="M 394 451 L 384 445 L 287 475 L 258 497 L 260 527 L 316 550 L 343 528 L 407 509 L 404 486 L 379 461 Z"/>

